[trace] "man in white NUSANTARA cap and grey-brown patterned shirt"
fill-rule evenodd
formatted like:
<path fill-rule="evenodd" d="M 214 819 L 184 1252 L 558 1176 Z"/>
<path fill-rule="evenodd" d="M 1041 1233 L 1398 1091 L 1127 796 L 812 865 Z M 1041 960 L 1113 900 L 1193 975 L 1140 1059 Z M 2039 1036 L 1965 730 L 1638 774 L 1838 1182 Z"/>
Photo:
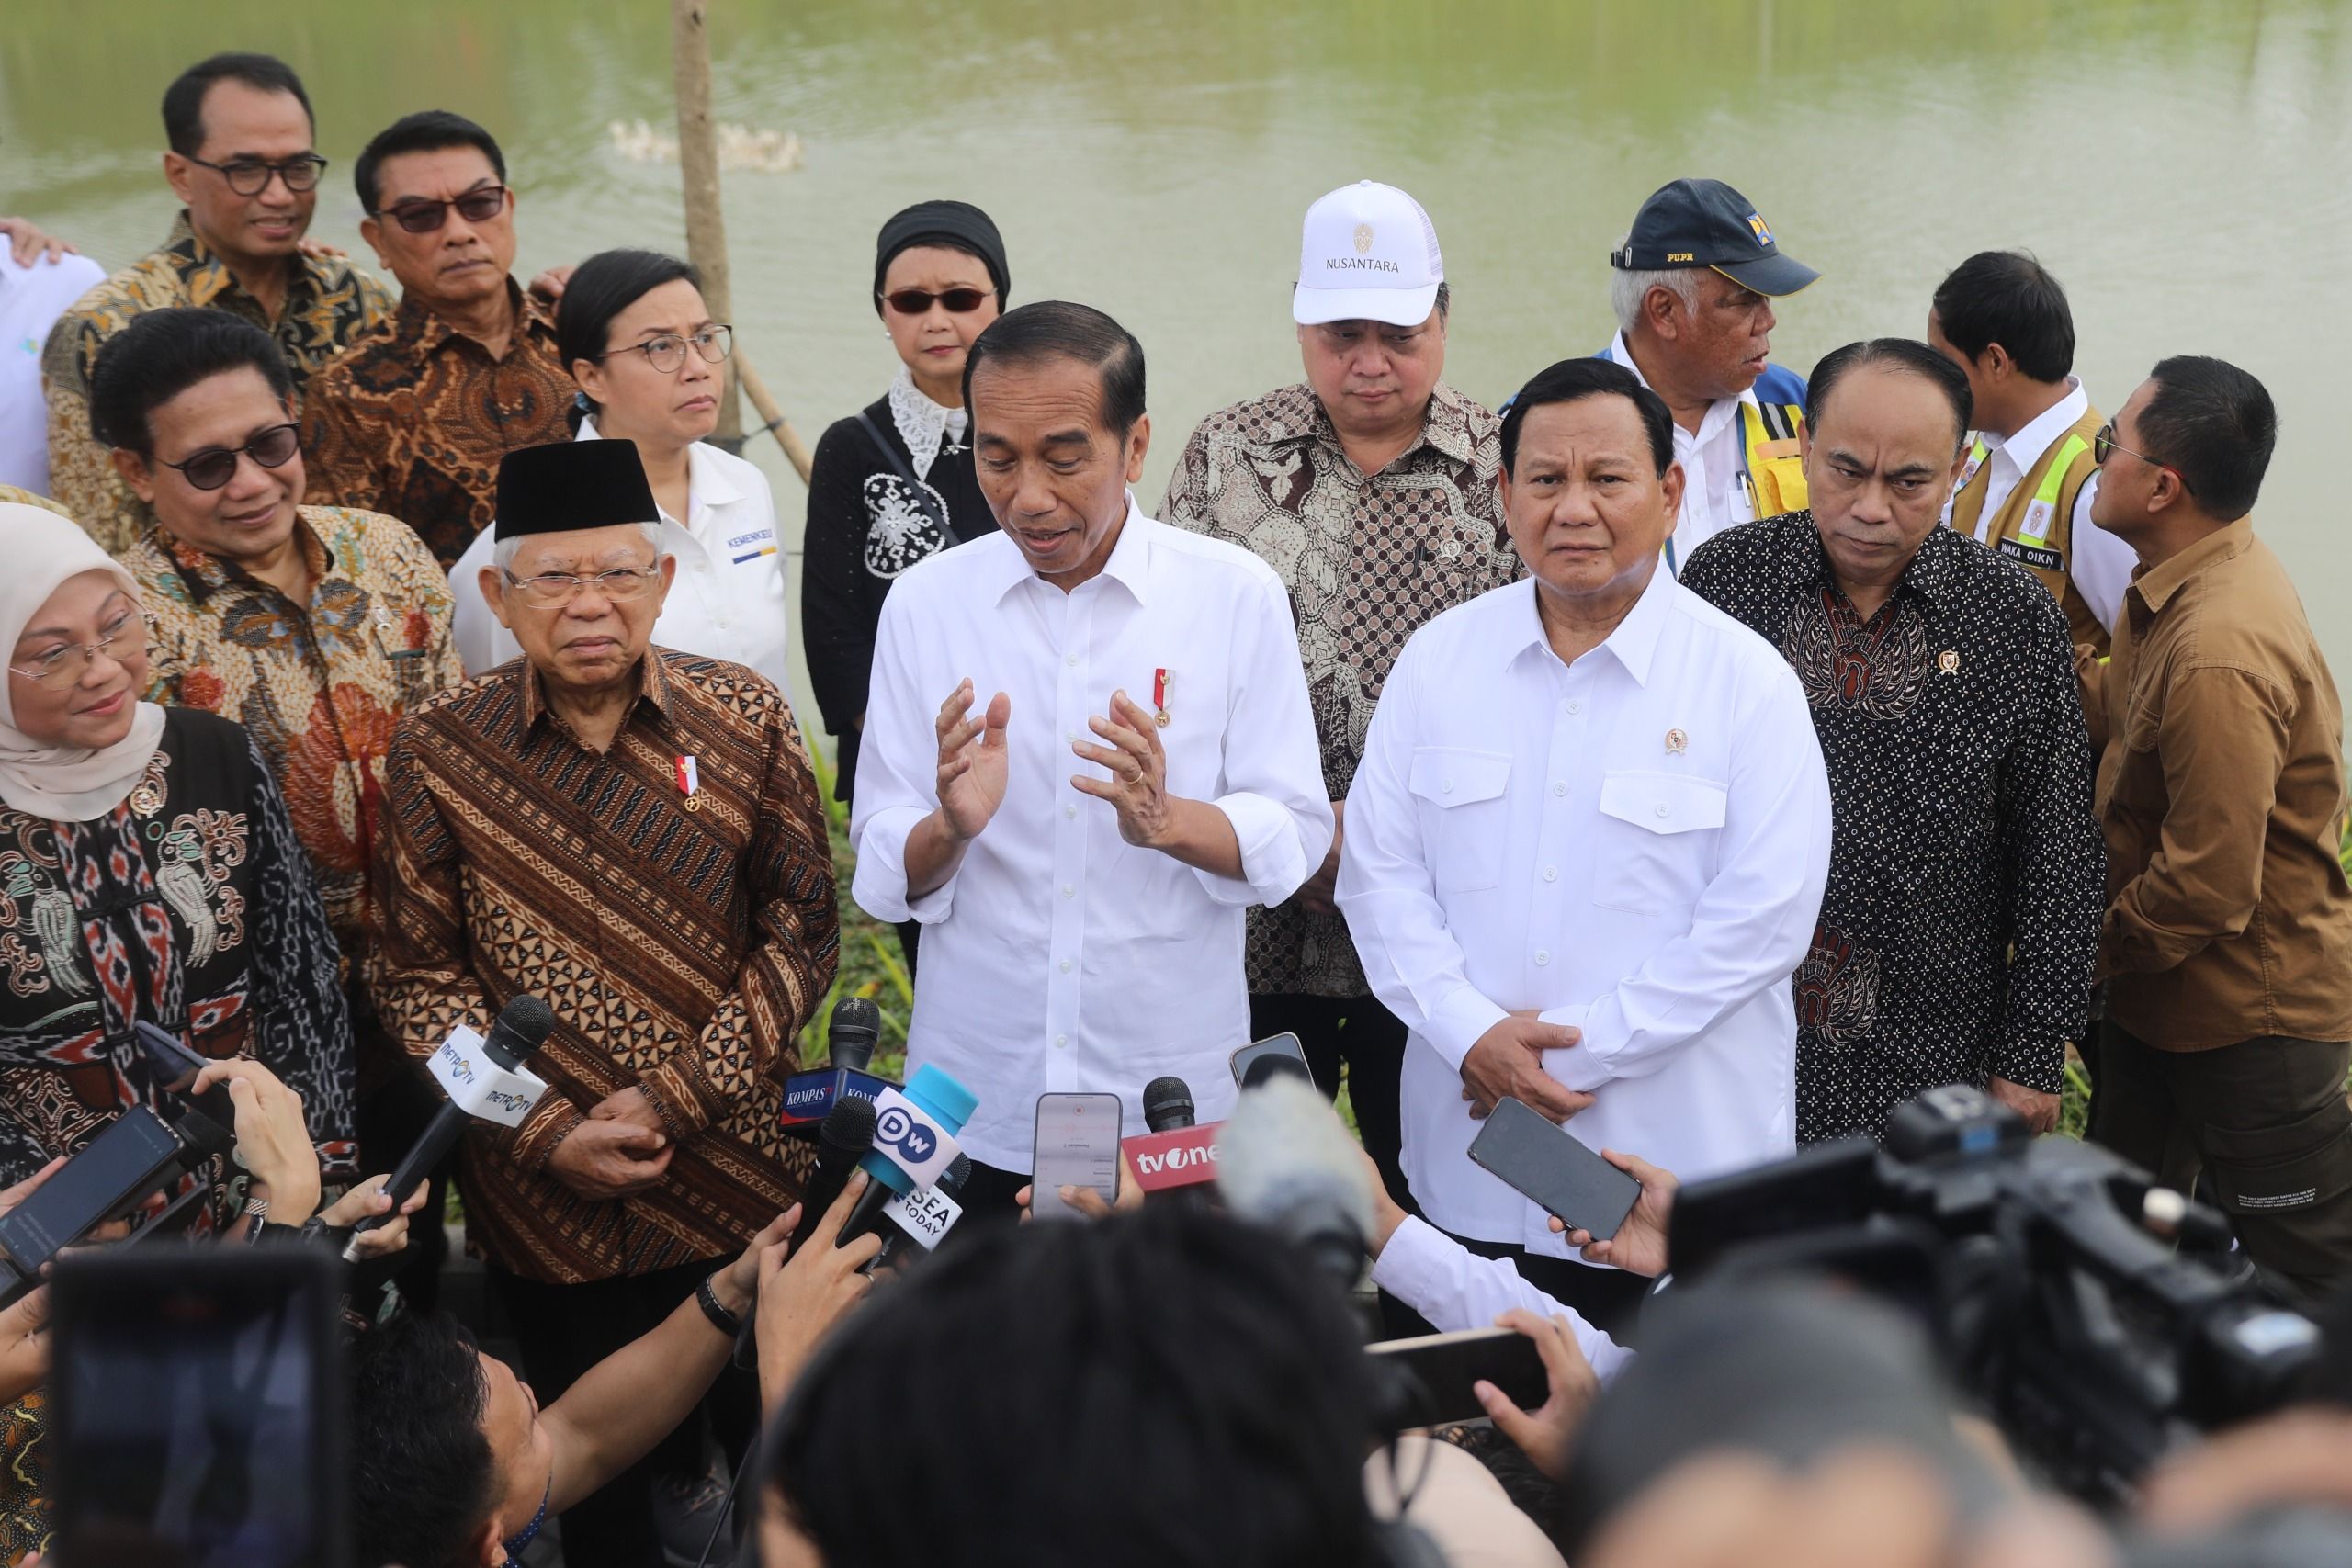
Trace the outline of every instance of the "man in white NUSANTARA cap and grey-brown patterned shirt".
<path fill-rule="evenodd" d="M 1439 381 L 1444 277 L 1430 214 L 1395 186 L 1367 179 L 1308 207 L 1291 294 L 1305 383 L 1204 418 L 1162 508 L 1289 588 L 1334 811 L 1404 639 L 1519 576 L 1496 505 L 1496 416 Z M 1404 1194 L 1404 1025 L 1364 983 L 1331 903 L 1336 872 L 1334 837 L 1298 896 L 1249 912 L 1251 1032 L 1298 1034 L 1324 1093 L 1345 1056 L 1364 1147 Z"/>

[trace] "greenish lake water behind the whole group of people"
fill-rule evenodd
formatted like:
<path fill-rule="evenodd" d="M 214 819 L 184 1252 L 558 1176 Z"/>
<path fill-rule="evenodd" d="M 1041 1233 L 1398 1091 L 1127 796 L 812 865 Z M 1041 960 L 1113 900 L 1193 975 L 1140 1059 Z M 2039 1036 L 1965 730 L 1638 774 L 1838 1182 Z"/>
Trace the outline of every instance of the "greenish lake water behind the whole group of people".
<path fill-rule="evenodd" d="M 873 235 L 983 205 L 1014 299 L 1096 303 L 1143 339 L 1148 508 L 1207 411 L 1296 381 L 1298 219 L 1352 179 L 1430 209 L 1454 282 L 1446 374 L 1496 402 L 1606 343 L 1606 252 L 1679 174 L 1726 179 L 1823 280 L 1776 360 L 1919 334 L 1943 273 L 2032 247 L 2067 284 L 2077 371 L 2114 409 L 2169 353 L 2258 374 L 2281 411 L 2260 531 L 2352 677 L 2336 505 L 2352 411 L 2352 35 L 2321 0 L 713 0 L 720 120 L 800 136 L 729 174 L 739 341 L 811 440 L 894 369 Z M 360 249 L 350 160 L 414 108 L 503 141 L 522 266 L 682 247 L 677 172 L 607 125 L 673 129 L 663 0 L 7 0 L 0 212 L 108 266 L 172 221 L 158 99 L 188 61 L 270 49 L 334 160 L 313 233 Z M 769 442 L 797 534 L 802 489 Z"/>

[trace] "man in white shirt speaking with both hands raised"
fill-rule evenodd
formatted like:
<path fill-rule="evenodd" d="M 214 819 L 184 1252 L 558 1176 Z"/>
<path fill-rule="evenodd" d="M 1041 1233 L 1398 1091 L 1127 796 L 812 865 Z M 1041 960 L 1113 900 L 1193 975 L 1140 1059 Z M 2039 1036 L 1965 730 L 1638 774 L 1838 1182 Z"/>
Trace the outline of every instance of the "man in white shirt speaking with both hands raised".
<path fill-rule="evenodd" d="M 964 1208 L 1009 1213 L 1037 1095 L 1174 1074 L 1200 1119 L 1249 1041 L 1242 924 L 1331 844 L 1289 597 L 1237 545 L 1155 522 L 1143 348 L 1101 310 L 1021 306 L 964 364 L 1002 534 L 908 569 L 882 609 L 851 893 L 917 919 L 908 1070 L 978 1110 Z"/>

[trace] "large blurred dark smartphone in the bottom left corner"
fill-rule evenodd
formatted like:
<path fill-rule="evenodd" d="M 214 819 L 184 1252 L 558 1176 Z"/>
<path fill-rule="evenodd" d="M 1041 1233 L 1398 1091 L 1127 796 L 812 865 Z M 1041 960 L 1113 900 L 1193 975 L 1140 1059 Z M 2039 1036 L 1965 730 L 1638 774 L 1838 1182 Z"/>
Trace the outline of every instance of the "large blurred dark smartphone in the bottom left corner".
<path fill-rule="evenodd" d="M 332 1253 L 68 1253 L 52 1291 L 61 1568 L 348 1568 Z"/>

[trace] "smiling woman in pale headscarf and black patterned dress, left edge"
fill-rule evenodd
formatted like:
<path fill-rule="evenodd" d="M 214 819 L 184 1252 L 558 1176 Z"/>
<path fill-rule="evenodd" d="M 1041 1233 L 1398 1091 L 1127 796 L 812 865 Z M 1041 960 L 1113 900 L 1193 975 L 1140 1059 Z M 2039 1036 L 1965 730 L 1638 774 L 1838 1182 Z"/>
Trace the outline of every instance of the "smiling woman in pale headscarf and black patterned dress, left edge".
<path fill-rule="evenodd" d="M 176 1114 L 139 1020 L 275 1072 L 348 1180 L 350 1018 L 270 769 L 238 724 L 139 701 L 139 583 L 87 534 L 0 505 L 0 1185 L 134 1105 Z M 230 1175 L 191 1178 L 198 1229 L 266 1197 Z"/>

